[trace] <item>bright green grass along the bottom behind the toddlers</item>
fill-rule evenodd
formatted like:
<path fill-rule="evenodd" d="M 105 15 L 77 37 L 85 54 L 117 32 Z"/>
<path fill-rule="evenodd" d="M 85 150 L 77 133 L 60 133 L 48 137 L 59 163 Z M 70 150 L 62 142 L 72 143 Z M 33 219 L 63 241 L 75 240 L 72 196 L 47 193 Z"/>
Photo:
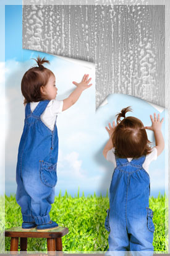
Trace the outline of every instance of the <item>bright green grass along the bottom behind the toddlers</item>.
<path fill-rule="evenodd" d="M 1 196 L 2 201 L 2 196 Z M 154 211 L 153 222 L 155 224 L 153 246 L 155 251 L 168 253 L 168 228 L 165 234 L 165 200 L 166 195 L 158 195 L 158 198 L 150 197 L 150 208 Z M 22 214 L 20 206 L 15 201 L 15 195 L 6 196 L 6 228 L 21 226 Z M 168 204 L 168 203 L 167 203 Z M 108 231 L 104 228 L 106 209 L 109 208 L 108 195 L 80 196 L 79 192 L 72 197 L 65 193 L 59 193 L 50 211 L 50 217 L 59 226 L 69 228 L 69 234 L 62 238 L 64 251 L 106 251 L 108 249 Z M 168 210 L 167 210 L 168 212 Z M 1 212 L 0 212 L 1 214 Z M 3 223 L 0 215 L 1 227 Z M 168 218 L 166 219 L 168 227 Z M 165 239 L 166 237 L 166 239 Z M 5 239 L 5 248 L 10 249 L 10 237 Z M 46 251 L 46 239 L 28 239 L 28 251 Z"/>

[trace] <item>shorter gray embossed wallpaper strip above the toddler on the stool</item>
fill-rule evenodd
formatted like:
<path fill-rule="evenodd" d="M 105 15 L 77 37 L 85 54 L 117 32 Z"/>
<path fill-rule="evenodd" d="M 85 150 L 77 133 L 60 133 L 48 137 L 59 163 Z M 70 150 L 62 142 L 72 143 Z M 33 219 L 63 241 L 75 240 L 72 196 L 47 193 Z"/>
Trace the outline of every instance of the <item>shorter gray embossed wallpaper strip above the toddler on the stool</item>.
<path fill-rule="evenodd" d="M 23 48 L 95 62 L 95 6 L 23 6 Z"/>

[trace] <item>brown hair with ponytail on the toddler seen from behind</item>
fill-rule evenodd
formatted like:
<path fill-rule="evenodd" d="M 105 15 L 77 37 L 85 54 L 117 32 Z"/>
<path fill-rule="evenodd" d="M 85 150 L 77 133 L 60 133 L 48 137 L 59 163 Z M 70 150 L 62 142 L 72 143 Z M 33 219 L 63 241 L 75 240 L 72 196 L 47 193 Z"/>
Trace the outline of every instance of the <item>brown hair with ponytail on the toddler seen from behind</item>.
<path fill-rule="evenodd" d="M 121 158 L 138 158 L 151 152 L 151 142 L 142 121 L 135 117 L 125 117 L 132 108 L 123 108 L 117 116 L 117 125 L 113 131 L 112 141 L 115 153 Z M 121 117 L 124 119 L 121 121 Z"/>

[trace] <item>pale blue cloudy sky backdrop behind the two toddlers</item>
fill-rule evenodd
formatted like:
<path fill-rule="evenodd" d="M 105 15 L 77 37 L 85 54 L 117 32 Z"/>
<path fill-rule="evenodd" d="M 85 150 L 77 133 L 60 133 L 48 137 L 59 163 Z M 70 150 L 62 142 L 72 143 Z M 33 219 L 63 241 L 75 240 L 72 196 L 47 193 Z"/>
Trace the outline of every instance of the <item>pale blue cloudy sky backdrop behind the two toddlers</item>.
<path fill-rule="evenodd" d="M 128 95 L 109 95 L 108 103 L 95 112 L 95 68 L 94 65 L 79 61 L 69 62 L 64 58 L 22 49 L 22 6 L 6 6 L 6 194 L 15 193 L 15 168 L 20 136 L 23 130 L 24 107 L 20 82 L 23 74 L 35 61 L 37 55 L 46 56 L 50 61 L 47 68 L 56 75 L 58 87 L 57 99 L 61 100 L 70 94 L 74 85 L 83 74 L 92 77 L 93 86 L 85 90 L 80 100 L 69 110 L 57 117 L 59 133 L 59 157 L 57 163 L 56 195 L 67 189 L 71 195 L 85 192 L 97 194 L 106 193 L 113 174 L 113 164 L 107 162 L 102 154 L 104 144 L 108 140 L 105 126 L 114 120 L 122 108 L 132 106 L 134 112 L 130 115 L 140 118 L 144 125 L 150 125 L 150 113 L 159 111 L 155 106 Z M 91 63 L 89 63 L 91 64 Z M 93 68 L 92 68 L 93 67 Z M 162 111 L 162 110 L 160 110 Z M 161 112 L 164 117 L 165 112 Z M 165 136 L 163 123 L 163 134 Z M 153 133 L 147 131 L 148 137 L 154 142 Z M 168 133 L 166 135 L 168 138 Z M 168 140 L 168 139 L 167 139 Z M 166 148 L 168 145 L 166 145 Z M 165 152 L 165 151 L 164 151 Z M 151 179 L 151 195 L 164 193 L 165 183 L 165 153 L 151 163 L 149 174 Z"/>

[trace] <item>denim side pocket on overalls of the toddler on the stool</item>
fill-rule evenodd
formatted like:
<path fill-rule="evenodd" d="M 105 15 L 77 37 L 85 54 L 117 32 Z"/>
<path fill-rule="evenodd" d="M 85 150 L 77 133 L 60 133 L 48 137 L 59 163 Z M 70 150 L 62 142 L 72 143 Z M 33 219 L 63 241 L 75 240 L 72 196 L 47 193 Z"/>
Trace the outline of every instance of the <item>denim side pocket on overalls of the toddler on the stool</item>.
<path fill-rule="evenodd" d="M 57 163 L 40 161 L 40 179 L 47 187 L 53 188 L 57 183 Z"/>

